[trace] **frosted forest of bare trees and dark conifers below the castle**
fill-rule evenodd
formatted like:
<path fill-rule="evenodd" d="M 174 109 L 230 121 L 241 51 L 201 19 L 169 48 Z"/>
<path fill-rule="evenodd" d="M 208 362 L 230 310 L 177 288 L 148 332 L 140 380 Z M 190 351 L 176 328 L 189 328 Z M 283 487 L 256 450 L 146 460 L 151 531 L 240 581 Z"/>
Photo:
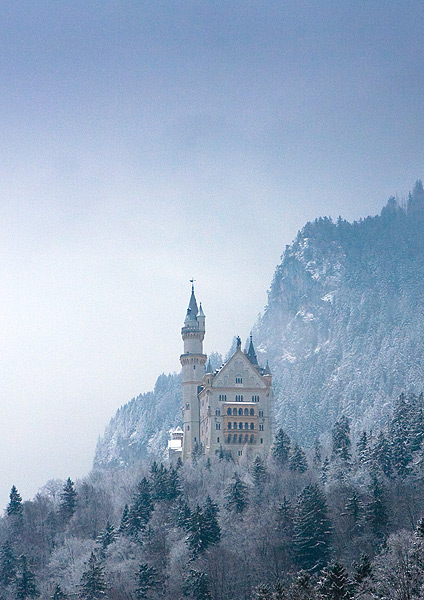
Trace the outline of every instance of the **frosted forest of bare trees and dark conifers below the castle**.
<path fill-rule="evenodd" d="M 139 461 L 12 487 L 2 600 L 399 599 L 424 594 L 424 399 L 353 443 L 349 419 L 305 451 L 280 429 L 266 459 Z"/>

